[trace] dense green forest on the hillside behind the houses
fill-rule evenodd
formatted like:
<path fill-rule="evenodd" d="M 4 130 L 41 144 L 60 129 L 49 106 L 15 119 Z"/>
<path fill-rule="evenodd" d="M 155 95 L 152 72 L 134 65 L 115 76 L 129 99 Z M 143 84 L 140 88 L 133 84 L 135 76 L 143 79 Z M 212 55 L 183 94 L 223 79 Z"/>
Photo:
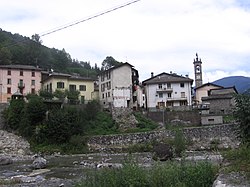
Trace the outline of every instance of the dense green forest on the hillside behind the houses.
<path fill-rule="evenodd" d="M 120 63 L 112 56 L 107 56 L 101 67 L 97 64 L 92 67 L 90 62 L 72 59 L 65 49 L 59 50 L 42 45 L 38 34 L 29 38 L 0 29 L 1 65 L 32 65 L 39 66 L 43 70 L 53 69 L 56 72 L 77 73 L 80 76 L 96 78 L 102 70 Z"/>

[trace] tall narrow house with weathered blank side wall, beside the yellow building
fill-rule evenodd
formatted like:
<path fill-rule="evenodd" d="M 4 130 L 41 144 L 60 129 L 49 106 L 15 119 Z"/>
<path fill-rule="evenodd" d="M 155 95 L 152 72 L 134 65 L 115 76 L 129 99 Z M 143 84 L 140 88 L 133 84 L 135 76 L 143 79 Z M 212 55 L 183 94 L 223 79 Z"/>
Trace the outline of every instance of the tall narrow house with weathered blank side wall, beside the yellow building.
<path fill-rule="evenodd" d="M 132 108 L 137 101 L 134 95 L 138 84 L 138 71 L 129 63 L 111 67 L 99 75 L 99 99 L 105 107 Z M 133 97 L 134 96 L 134 97 Z"/>

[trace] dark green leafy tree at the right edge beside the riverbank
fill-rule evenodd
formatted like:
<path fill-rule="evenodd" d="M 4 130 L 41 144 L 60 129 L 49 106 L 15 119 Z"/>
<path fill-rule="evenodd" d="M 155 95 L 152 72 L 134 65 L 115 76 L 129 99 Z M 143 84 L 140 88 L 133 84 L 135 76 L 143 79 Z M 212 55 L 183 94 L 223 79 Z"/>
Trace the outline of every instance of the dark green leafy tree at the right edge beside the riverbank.
<path fill-rule="evenodd" d="M 242 143 L 250 145 L 250 95 L 236 95 L 234 117 L 239 123 L 238 135 Z"/>

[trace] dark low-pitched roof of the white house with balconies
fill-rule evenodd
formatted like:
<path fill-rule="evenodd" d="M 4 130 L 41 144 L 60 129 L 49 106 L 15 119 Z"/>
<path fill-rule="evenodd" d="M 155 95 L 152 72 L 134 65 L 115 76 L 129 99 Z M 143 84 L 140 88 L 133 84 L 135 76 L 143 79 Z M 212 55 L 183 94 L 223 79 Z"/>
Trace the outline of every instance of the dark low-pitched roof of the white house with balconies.
<path fill-rule="evenodd" d="M 177 74 L 161 73 L 156 76 L 153 76 L 145 81 L 142 84 L 157 84 L 157 83 L 178 83 L 178 82 L 193 82 L 193 79 L 188 77 L 183 77 Z"/>

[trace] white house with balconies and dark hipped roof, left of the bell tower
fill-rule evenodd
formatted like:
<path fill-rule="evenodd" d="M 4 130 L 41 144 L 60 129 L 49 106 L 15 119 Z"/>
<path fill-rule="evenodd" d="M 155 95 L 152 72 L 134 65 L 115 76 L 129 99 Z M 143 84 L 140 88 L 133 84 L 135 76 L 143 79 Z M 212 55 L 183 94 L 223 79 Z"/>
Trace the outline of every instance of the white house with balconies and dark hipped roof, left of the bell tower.
<path fill-rule="evenodd" d="M 161 73 L 142 82 L 148 110 L 172 108 L 185 110 L 192 105 L 193 80 L 175 73 Z"/>

